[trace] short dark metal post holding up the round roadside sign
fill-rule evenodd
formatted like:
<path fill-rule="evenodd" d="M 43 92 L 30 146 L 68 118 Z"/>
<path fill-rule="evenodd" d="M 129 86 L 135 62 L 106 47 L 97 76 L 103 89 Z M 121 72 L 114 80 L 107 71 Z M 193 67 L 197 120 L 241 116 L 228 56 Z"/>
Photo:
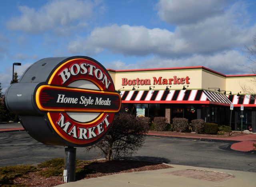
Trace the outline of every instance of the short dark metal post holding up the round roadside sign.
<path fill-rule="evenodd" d="M 64 183 L 76 181 L 76 148 L 65 148 Z"/>

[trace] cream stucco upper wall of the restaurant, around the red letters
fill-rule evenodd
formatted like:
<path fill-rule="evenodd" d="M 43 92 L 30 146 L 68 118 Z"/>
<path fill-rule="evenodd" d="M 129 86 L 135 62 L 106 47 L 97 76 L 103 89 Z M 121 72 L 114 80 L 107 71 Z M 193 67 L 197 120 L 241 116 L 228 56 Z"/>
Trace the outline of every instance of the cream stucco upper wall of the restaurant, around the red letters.
<path fill-rule="evenodd" d="M 149 86 L 155 86 L 154 90 L 164 90 L 166 86 L 172 86 L 171 90 L 180 90 L 183 86 L 189 86 L 189 90 L 209 90 L 208 88 L 220 88 L 220 90 L 231 91 L 232 94 L 237 94 L 238 92 L 242 92 L 242 85 L 246 85 L 246 87 L 250 87 L 255 90 L 256 93 L 256 75 L 246 77 L 243 76 L 236 76 L 236 77 L 229 77 L 223 74 L 219 74 L 212 70 L 207 70 L 207 68 L 184 68 L 180 70 L 138 70 L 138 71 L 128 71 L 128 72 L 112 72 L 110 71 L 110 76 L 112 77 L 116 90 L 124 87 L 124 90 L 132 90 L 133 85 L 131 86 L 122 86 L 122 78 L 126 78 L 127 80 L 136 80 L 139 78 L 140 80 L 149 79 L 150 85 L 134 85 L 138 86 L 138 90 L 149 90 Z M 190 84 L 157 84 L 154 85 L 153 77 L 158 80 L 159 77 L 162 77 L 162 80 L 171 79 L 176 76 L 177 78 L 186 78 L 187 76 L 190 78 L 188 81 Z M 210 89 L 214 91 L 214 89 Z M 243 92 L 242 92 L 243 93 Z M 229 92 L 227 92 L 229 94 Z M 251 94 L 251 93 L 250 93 Z"/>

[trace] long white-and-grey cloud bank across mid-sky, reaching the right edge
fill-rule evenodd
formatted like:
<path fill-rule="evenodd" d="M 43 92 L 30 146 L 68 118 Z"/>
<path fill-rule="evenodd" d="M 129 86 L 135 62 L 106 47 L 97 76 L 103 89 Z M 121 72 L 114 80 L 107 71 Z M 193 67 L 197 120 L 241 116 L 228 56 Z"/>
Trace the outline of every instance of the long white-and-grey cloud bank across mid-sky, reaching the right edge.
<path fill-rule="evenodd" d="M 230 20 L 229 20 L 230 21 Z M 229 24 L 229 25 L 228 25 Z M 71 53 L 97 54 L 108 50 L 124 56 L 180 58 L 193 54 L 214 54 L 252 43 L 256 25 L 240 28 L 223 17 L 201 24 L 178 26 L 174 32 L 144 26 L 112 25 L 95 28 L 87 38 L 70 42 Z"/>

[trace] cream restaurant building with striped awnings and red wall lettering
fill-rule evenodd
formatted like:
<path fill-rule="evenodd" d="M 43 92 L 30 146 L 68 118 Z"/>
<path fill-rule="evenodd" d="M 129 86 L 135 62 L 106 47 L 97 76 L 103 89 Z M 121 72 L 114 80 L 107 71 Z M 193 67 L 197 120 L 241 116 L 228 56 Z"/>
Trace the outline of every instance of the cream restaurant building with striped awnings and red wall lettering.
<path fill-rule="evenodd" d="M 229 125 L 234 104 L 232 130 L 240 131 L 242 124 L 242 130 L 256 132 L 255 94 L 242 91 L 254 88 L 256 74 L 224 75 L 203 66 L 108 72 L 122 97 L 123 112 L 166 117 L 168 123 L 184 117 Z"/>

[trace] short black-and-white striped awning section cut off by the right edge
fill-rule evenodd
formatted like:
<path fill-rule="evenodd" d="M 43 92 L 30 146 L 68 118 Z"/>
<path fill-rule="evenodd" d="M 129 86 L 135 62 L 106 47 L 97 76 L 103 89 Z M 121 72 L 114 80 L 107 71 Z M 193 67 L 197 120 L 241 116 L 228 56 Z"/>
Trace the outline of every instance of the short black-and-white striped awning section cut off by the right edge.
<path fill-rule="evenodd" d="M 228 99 L 234 104 L 235 107 L 256 107 L 256 95 L 228 95 Z"/>

